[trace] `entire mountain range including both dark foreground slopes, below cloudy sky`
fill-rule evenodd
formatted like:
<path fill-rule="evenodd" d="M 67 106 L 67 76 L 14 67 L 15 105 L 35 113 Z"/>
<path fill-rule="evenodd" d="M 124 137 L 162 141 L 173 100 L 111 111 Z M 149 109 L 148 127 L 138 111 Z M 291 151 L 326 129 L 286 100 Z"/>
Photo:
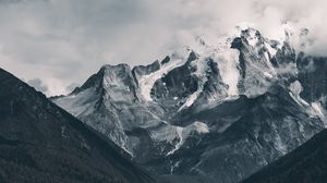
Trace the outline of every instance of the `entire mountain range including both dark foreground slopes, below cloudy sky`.
<path fill-rule="evenodd" d="M 50 98 L 0 69 L 0 182 L 324 182 L 327 58 L 294 36 L 196 38 Z"/>

